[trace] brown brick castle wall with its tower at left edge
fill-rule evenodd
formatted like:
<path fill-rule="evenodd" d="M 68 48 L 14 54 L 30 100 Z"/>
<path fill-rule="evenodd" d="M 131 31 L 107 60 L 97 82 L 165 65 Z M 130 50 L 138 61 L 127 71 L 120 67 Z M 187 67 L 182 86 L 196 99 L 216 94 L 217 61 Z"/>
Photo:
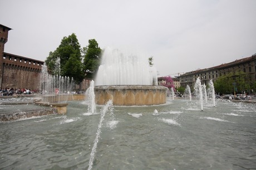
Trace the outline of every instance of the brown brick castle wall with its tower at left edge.
<path fill-rule="evenodd" d="M 4 44 L 8 40 L 8 28 L 0 24 L 0 87 L 40 89 L 40 73 L 43 61 L 24 56 L 4 53 Z"/>

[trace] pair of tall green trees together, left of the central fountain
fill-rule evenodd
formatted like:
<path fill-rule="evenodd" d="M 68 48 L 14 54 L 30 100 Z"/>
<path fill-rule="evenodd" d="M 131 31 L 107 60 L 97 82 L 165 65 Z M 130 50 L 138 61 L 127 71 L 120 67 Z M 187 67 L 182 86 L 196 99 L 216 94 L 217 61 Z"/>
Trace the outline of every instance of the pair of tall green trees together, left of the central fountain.
<path fill-rule="evenodd" d="M 77 84 L 84 78 L 93 78 L 100 65 L 102 50 L 95 39 L 88 40 L 88 43 L 81 49 L 74 33 L 63 37 L 58 48 L 50 51 L 45 60 L 48 71 L 52 75 L 72 77 Z"/>

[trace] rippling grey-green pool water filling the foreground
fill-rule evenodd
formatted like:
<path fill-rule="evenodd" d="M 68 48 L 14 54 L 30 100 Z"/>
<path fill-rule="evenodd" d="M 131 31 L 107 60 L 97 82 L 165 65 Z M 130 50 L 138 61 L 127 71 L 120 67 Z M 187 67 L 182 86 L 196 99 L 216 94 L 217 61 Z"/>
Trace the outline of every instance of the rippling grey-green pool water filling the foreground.
<path fill-rule="evenodd" d="M 66 115 L 1 122 L 0 169 L 87 169 L 99 121 L 100 113 L 73 101 Z M 114 107 L 92 169 L 253 169 L 255 143 L 255 104 Z"/>

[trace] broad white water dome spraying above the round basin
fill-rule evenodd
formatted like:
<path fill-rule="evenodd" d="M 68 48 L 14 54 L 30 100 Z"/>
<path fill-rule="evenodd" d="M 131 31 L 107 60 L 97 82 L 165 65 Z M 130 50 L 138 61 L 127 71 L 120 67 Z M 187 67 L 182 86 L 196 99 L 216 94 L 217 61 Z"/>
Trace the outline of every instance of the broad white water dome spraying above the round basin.
<path fill-rule="evenodd" d="M 95 85 L 157 85 L 157 72 L 147 58 L 106 48 Z"/>

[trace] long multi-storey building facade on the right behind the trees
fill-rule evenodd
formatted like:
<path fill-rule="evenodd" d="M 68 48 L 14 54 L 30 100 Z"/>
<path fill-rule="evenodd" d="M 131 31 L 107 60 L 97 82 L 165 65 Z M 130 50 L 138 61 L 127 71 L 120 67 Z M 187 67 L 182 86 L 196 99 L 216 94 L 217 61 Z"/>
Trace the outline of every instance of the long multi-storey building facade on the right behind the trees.
<path fill-rule="evenodd" d="M 230 63 L 221 64 L 212 68 L 190 71 L 179 76 L 180 85 L 186 87 L 189 85 L 193 88 L 196 79 L 199 78 L 202 84 L 208 85 L 210 80 L 215 81 L 220 76 L 235 73 L 235 71 L 243 71 L 249 76 L 249 80 L 256 81 L 256 54 L 247 58 L 232 61 Z"/>

